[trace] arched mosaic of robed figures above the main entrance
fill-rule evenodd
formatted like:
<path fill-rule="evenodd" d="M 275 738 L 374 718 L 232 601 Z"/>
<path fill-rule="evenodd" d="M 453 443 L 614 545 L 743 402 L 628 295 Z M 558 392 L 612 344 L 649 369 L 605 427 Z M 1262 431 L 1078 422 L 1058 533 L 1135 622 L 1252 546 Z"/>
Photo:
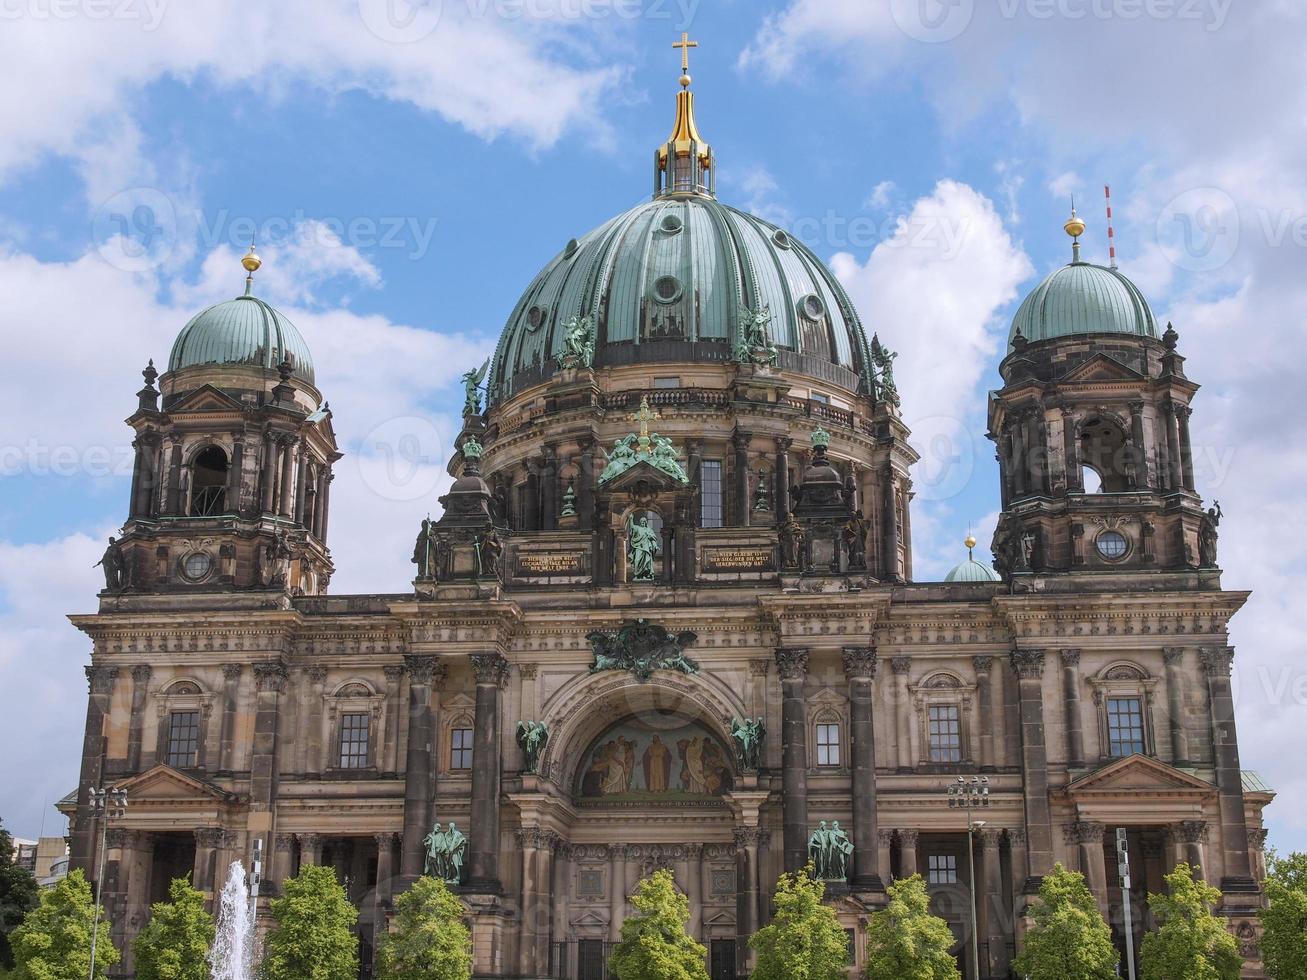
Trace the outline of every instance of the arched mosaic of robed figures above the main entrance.
<path fill-rule="evenodd" d="M 627 719 L 586 754 L 576 796 L 586 802 L 676 802 L 731 792 L 731 754 L 693 721 Z"/>

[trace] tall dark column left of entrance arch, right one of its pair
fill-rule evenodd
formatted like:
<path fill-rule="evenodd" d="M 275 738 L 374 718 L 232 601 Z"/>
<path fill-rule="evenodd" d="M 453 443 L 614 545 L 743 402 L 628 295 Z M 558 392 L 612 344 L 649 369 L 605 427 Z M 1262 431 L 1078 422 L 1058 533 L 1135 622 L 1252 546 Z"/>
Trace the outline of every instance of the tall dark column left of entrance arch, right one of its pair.
<path fill-rule="evenodd" d="M 472 828 L 468 841 L 468 887 L 498 892 L 499 886 L 499 691 L 508 661 L 498 653 L 469 657 L 477 678 L 472 721 Z"/>

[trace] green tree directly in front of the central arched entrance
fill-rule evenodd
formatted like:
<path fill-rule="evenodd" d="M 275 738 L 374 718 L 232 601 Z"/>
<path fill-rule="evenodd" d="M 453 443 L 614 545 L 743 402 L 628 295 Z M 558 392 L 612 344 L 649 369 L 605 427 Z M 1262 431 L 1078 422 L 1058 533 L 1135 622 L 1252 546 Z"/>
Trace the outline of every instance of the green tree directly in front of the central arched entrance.
<path fill-rule="evenodd" d="M 635 915 L 622 923 L 622 941 L 609 970 L 617 980 L 708 980 L 708 951 L 690 938 L 690 903 L 667 869 L 644 878 L 631 896 Z"/>

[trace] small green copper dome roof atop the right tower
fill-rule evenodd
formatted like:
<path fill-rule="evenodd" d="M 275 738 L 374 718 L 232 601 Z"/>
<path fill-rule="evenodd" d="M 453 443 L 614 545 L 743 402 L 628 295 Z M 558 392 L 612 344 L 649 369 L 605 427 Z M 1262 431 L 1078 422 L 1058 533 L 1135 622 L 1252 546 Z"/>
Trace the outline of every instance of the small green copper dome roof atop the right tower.
<path fill-rule="evenodd" d="M 1008 338 L 1035 344 L 1055 337 L 1128 333 L 1157 338 L 1157 323 L 1138 286 L 1119 270 L 1073 261 L 1053 272 L 1017 310 Z"/>

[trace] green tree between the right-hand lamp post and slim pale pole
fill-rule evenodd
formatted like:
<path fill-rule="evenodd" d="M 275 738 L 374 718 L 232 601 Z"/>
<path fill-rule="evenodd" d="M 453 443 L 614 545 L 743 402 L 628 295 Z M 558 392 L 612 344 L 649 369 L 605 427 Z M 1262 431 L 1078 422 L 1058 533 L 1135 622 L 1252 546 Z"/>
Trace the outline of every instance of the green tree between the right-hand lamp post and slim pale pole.
<path fill-rule="evenodd" d="M 1044 875 L 1035 920 L 1013 968 L 1030 980 L 1115 980 L 1120 956 L 1085 875 L 1060 864 Z"/>

